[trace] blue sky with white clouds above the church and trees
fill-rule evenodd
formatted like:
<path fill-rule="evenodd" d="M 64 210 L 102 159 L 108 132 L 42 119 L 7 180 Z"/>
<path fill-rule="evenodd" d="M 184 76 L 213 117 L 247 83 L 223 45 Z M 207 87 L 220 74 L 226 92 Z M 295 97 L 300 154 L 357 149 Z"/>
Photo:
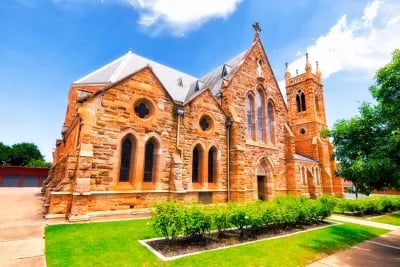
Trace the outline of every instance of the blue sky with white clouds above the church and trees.
<path fill-rule="evenodd" d="M 304 53 L 324 75 L 329 125 L 356 114 L 400 47 L 400 2 L 347 0 L 0 1 L 0 142 L 51 161 L 71 83 L 134 53 L 200 77 L 249 47 L 252 23 L 278 81 Z"/>

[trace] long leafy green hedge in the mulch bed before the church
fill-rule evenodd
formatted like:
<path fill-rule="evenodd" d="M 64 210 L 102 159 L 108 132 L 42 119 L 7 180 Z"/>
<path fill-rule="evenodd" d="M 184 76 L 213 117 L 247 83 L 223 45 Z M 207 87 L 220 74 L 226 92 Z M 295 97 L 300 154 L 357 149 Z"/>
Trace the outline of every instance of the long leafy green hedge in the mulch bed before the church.
<path fill-rule="evenodd" d="M 160 202 L 153 206 L 151 225 L 167 239 L 178 235 L 202 238 L 211 229 L 220 236 L 229 228 L 236 227 L 240 236 L 246 230 L 256 234 L 261 227 L 273 228 L 307 225 L 330 216 L 335 205 L 332 196 L 318 200 L 290 195 L 276 197 L 270 202 L 221 205 L 184 204 L 182 202 Z"/>

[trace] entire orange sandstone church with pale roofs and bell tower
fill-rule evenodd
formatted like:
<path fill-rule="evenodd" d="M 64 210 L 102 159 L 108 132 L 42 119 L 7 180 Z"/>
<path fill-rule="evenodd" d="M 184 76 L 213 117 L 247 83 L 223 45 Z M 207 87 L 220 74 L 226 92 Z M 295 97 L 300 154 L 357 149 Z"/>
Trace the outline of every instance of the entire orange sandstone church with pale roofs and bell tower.
<path fill-rule="evenodd" d="M 155 201 L 342 195 L 322 75 L 286 71 L 260 40 L 196 78 L 129 51 L 71 85 L 45 186 L 47 217 L 133 213 Z"/>

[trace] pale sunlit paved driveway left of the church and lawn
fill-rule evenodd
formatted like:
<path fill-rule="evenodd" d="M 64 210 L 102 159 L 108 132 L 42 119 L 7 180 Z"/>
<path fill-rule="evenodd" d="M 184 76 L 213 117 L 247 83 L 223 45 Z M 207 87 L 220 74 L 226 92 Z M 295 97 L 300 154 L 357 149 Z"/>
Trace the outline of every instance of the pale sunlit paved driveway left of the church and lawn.
<path fill-rule="evenodd" d="M 43 202 L 40 188 L 0 188 L 0 265 L 42 267 Z"/>

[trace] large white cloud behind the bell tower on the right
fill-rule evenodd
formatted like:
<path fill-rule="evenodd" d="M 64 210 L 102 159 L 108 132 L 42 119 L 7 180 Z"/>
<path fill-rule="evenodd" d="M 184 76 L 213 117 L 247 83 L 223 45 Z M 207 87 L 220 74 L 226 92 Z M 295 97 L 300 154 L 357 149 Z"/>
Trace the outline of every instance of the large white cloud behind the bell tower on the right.
<path fill-rule="evenodd" d="M 390 60 L 391 52 L 400 47 L 398 10 L 400 1 L 375 0 L 367 4 L 361 18 L 349 20 L 343 15 L 327 34 L 305 49 L 311 62 L 320 62 L 324 78 L 339 71 L 365 72 L 372 78 Z M 292 76 L 296 68 L 303 72 L 305 67 L 304 55 L 296 56 L 289 64 Z"/>

